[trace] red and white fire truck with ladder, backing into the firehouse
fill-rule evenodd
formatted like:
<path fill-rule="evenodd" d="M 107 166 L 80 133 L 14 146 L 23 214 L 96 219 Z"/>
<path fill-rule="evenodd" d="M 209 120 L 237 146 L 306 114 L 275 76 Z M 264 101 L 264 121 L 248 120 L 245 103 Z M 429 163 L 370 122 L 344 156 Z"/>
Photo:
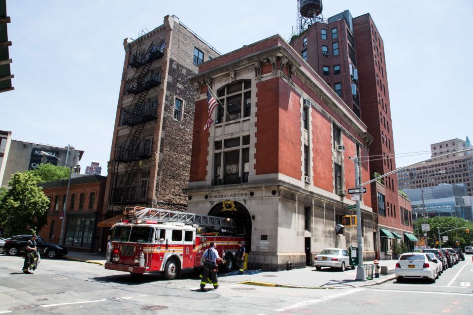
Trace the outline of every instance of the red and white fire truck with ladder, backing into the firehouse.
<path fill-rule="evenodd" d="M 127 219 L 111 228 L 105 269 L 134 277 L 162 273 L 172 280 L 181 270 L 200 269 L 210 242 L 217 244 L 226 260 L 223 269 L 230 271 L 236 265 L 238 241 L 245 240 L 234 235 L 236 224 L 230 218 L 142 207 L 128 207 L 124 215 Z"/>

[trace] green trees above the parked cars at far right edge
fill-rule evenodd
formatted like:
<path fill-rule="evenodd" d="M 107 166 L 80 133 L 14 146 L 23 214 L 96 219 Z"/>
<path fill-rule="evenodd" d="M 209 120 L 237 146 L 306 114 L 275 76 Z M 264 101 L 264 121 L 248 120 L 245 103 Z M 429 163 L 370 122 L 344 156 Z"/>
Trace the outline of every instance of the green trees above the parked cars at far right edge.
<path fill-rule="evenodd" d="M 420 236 L 424 234 L 424 232 L 422 232 L 423 223 L 423 219 L 413 222 L 413 230 L 416 235 Z M 430 231 L 427 232 L 427 245 L 430 247 L 438 247 L 438 245 L 435 244 L 435 242 L 439 240 L 438 227 L 440 227 L 440 233 L 457 227 L 467 227 L 470 229 L 469 234 L 466 233 L 465 228 L 440 234 L 440 240 L 442 236 L 448 236 L 448 241 L 441 243 L 442 247 L 464 248 L 465 246 L 473 246 L 473 223 L 470 221 L 456 217 L 435 217 L 426 218 L 425 223 L 430 224 Z M 460 245 L 455 244 L 456 240 L 458 240 Z"/>

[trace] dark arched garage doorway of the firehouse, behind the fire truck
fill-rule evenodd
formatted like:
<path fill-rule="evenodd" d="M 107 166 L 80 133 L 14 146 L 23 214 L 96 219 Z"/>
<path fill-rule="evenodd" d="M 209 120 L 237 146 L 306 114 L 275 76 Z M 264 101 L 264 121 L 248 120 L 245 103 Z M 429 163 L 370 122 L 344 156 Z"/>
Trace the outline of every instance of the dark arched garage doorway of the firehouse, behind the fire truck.
<path fill-rule="evenodd" d="M 245 206 L 236 201 L 223 201 L 210 209 L 209 216 L 230 218 L 236 223 L 236 235 L 245 236 L 246 252 L 251 251 L 251 216 Z"/>

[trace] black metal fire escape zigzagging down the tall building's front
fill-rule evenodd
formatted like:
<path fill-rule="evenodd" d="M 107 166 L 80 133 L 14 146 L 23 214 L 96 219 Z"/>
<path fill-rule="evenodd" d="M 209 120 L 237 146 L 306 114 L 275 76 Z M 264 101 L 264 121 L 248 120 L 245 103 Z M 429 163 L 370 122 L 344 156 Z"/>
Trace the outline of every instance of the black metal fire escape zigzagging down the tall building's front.
<path fill-rule="evenodd" d="M 146 99 L 150 89 L 161 83 L 161 71 L 151 68 L 155 60 L 164 55 L 165 42 L 154 40 L 142 51 L 142 39 L 138 39 L 134 53 L 131 53 L 129 65 L 135 68 L 134 76 L 127 80 L 125 90 L 134 95 L 127 110 L 123 110 L 121 125 L 127 126 L 129 133 L 123 144 L 115 150 L 110 210 L 115 205 L 147 203 L 149 187 L 134 185 L 135 177 L 142 162 L 153 156 L 151 140 L 142 140 L 141 133 L 147 122 L 157 119 L 157 101 Z M 125 166 L 125 172 L 118 176 L 119 166 Z"/>

